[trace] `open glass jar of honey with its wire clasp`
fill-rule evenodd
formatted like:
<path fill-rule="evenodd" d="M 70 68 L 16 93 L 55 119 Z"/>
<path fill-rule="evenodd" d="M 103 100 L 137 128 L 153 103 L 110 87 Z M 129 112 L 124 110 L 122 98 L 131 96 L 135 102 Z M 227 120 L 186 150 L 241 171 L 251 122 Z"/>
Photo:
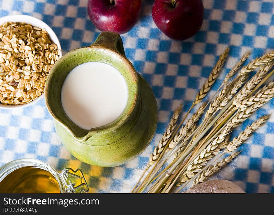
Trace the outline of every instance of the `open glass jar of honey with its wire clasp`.
<path fill-rule="evenodd" d="M 84 193 L 88 185 L 80 169 L 61 173 L 37 159 L 19 159 L 0 168 L 0 193 Z"/>

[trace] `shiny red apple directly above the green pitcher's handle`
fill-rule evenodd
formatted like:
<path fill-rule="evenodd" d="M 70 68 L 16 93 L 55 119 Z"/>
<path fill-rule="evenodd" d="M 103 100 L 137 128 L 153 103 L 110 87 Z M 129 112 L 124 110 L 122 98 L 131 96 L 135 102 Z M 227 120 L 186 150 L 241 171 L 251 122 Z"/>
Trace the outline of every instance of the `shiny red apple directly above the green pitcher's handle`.
<path fill-rule="evenodd" d="M 141 0 L 88 0 L 87 12 L 101 31 L 128 32 L 136 24 Z"/>

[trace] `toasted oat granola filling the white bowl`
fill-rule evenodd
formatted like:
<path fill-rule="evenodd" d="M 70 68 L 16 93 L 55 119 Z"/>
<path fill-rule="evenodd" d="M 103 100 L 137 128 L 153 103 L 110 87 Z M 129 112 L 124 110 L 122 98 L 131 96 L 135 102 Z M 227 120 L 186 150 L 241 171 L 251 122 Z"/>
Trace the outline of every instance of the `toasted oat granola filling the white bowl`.
<path fill-rule="evenodd" d="M 44 92 L 60 50 L 45 29 L 20 22 L 0 26 L 0 103 L 26 104 Z"/>

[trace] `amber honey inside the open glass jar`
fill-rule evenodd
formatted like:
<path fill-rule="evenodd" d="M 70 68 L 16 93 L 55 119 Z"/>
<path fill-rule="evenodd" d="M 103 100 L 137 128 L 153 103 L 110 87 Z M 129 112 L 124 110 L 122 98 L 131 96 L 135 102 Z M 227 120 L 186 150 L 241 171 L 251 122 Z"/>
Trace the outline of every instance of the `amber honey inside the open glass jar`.
<path fill-rule="evenodd" d="M 0 193 L 60 193 L 60 188 L 49 171 L 27 166 L 9 173 L 0 182 Z"/>

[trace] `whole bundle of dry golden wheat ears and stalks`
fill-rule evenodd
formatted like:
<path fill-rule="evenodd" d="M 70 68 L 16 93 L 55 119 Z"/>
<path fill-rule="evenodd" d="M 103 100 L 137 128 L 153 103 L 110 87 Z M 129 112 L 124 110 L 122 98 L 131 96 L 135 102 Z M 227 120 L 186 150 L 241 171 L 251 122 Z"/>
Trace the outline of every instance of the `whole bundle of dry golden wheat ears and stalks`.
<path fill-rule="evenodd" d="M 182 186 L 184 187 L 198 174 L 199 176 L 195 179 L 194 183 L 206 180 L 214 172 L 217 172 L 236 157 L 239 152 L 234 152 L 235 149 L 268 119 L 269 116 L 260 117 L 257 121 L 247 126 L 238 137 L 229 141 L 231 131 L 235 127 L 239 126 L 253 112 L 257 111 L 274 97 L 274 81 L 259 89 L 274 73 L 273 70 L 267 74 L 274 64 L 274 51 L 256 58 L 240 70 L 243 62 L 249 56 L 249 53 L 245 53 L 225 76 L 224 82 L 219 88 L 221 89 L 219 94 L 216 97 L 215 95 L 213 96 L 211 103 L 203 103 L 197 112 L 182 126 L 188 113 L 196 104 L 201 102 L 215 82 L 221 67 L 224 65 L 227 54 L 228 49 L 220 55 L 209 78 L 196 95 L 195 101 L 192 103 L 191 108 L 184 116 L 180 125 L 176 128 L 173 126 L 175 128 L 173 130 L 171 129 L 172 125 L 168 126 L 150 158 L 150 162 L 156 162 L 140 185 L 136 185 L 137 189 L 135 190 L 134 188 L 135 192 L 143 192 L 150 183 L 153 183 L 148 192 L 168 193 L 175 185 L 186 182 Z M 260 69 L 257 73 L 250 80 L 246 81 L 247 73 L 258 67 Z M 238 70 L 240 70 L 239 74 L 229 82 Z M 242 87 L 244 83 L 246 84 Z M 197 126 L 196 124 L 208 104 L 209 107 L 205 112 L 205 117 L 201 124 Z M 217 162 L 221 156 L 231 151 L 233 151 L 231 155 Z M 163 157 L 165 153 L 168 154 Z M 169 158 L 172 155 L 175 159 L 169 163 Z M 214 157 L 217 158 L 209 164 L 209 161 Z M 159 164 L 159 162 L 161 163 Z M 212 165 L 215 162 L 217 163 Z"/>

